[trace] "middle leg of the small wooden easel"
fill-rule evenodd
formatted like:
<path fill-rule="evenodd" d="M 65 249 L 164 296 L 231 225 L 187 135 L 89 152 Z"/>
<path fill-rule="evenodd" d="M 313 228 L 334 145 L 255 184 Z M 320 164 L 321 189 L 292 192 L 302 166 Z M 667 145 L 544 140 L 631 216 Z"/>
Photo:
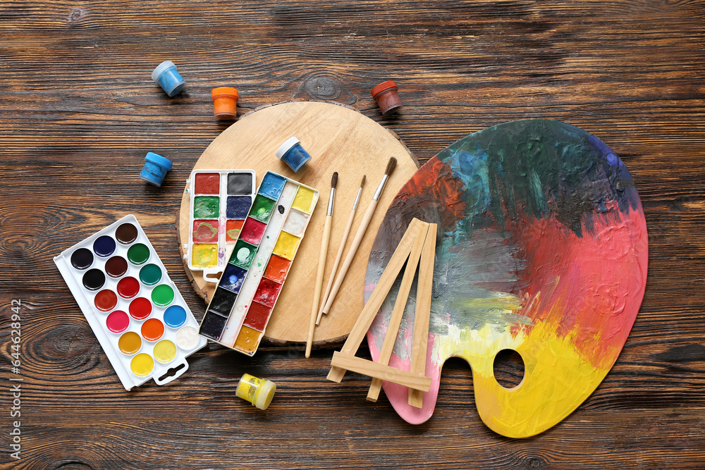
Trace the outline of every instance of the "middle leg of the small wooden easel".
<path fill-rule="evenodd" d="M 384 342 L 379 350 L 377 364 L 383 364 L 384 366 L 389 364 L 389 358 L 392 355 L 392 351 L 394 350 L 394 342 L 396 342 L 396 337 L 399 334 L 399 326 L 401 325 L 401 319 L 404 316 L 406 302 L 409 299 L 411 285 L 414 283 L 414 278 L 416 277 L 416 268 L 419 266 L 421 250 L 424 248 L 424 242 L 426 241 L 426 234 L 428 230 L 429 224 L 422 222 L 422 228 L 419 230 L 417 238 L 414 241 L 414 246 L 412 247 L 411 254 L 409 255 L 409 261 L 406 262 L 406 269 L 404 271 L 404 276 L 401 279 L 401 285 L 399 286 L 396 302 L 394 302 L 394 309 L 392 310 L 391 317 L 389 318 L 387 333 L 384 335 Z M 376 402 L 377 398 L 379 398 L 379 390 L 381 387 L 382 381 L 379 380 L 379 378 L 373 378 L 372 384 L 369 385 L 369 390 L 367 391 L 367 400 L 370 402 Z"/>

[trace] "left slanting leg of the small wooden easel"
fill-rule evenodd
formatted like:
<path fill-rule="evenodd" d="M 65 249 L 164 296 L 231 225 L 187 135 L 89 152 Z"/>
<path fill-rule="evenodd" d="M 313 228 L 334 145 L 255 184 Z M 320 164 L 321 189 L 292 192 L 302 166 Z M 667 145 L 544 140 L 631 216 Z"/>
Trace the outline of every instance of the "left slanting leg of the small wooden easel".
<path fill-rule="evenodd" d="M 399 245 L 397 245 L 394 253 L 392 254 L 389 262 L 384 268 L 382 276 L 380 276 L 379 281 L 374 286 L 372 290 L 372 295 L 367 299 L 367 304 L 364 304 L 360 316 L 357 317 L 357 321 L 353 326 L 353 330 L 350 331 L 348 339 L 345 340 L 345 344 L 341 348 L 341 352 L 346 354 L 355 355 L 357 348 L 360 347 L 360 343 L 364 338 L 364 335 L 369 330 L 369 326 L 372 325 L 372 321 L 379 311 L 379 307 L 384 303 L 384 299 L 387 297 L 387 293 L 391 289 L 394 281 L 396 280 L 399 271 L 403 268 L 406 263 L 411 249 L 414 245 L 415 240 L 418 237 L 419 229 L 422 227 L 422 221 L 415 218 L 409 224 L 406 229 L 404 236 L 401 237 Z M 329 381 L 340 382 L 345 376 L 345 369 L 340 367 L 332 366 L 331 371 L 328 373 Z"/>

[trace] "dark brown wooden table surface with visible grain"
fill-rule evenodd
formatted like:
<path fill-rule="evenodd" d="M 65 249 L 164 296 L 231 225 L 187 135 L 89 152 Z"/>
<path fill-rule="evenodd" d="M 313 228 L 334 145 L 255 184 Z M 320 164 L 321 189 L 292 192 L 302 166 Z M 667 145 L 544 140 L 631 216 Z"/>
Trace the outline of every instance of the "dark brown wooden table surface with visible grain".
<path fill-rule="evenodd" d="M 0 1 L 0 466 L 701 468 L 704 11 L 687 0 Z M 166 59 L 188 80 L 173 99 L 149 78 Z M 389 78 L 405 104 L 396 117 L 369 96 Z M 420 426 L 384 394 L 365 402 L 367 378 L 326 381 L 332 350 L 307 360 L 302 347 L 264 345 L 247 359 L 210 345 L 171 385 L 125 392 L 51 258 L 135 214 L 200 316 L 174 223 L 190 168 L 228 125 L 212 116 L 220 85 L 240 90 L 240 113 L 289 99 L 349 104 L 422 162 L 470 132 L 535 117 L 618 151 L 642 197 L 651 256 L 642 309 L 605 381 L 527 440 L 484 426 L 458 359 Z M 161 188 L 137 178 L 147 151 L 175 162 Z M 278 385 L 266 412 L 235 397 L 245 372 Z M 21 416 L 11 417 L 18 383 Z"/>

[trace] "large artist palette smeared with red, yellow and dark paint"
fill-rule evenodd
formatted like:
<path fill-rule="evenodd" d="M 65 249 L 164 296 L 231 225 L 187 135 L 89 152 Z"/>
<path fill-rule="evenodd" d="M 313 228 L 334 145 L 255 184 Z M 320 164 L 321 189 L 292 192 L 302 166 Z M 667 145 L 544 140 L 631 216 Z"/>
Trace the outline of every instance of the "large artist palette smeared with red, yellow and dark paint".
<path fill-rule="evenodd" d="M 439 233 L 432 385 L 417 409 L 407 388 L 384 383 L 398 414 L 429 419 L 443 362 L 462 357 L 479 416 L 493 431 L 525 438 L 568 416 L 611 369 L 644 296 L 646 223 L 624 163 L 596 137 L 555 120 L 505 123 L 455 142 L 387 211 L 369 258 L 368 295 L 414 217 L 437 223 Z M 367 333 L 375 360 L 393 297 Z M 410 301 L 389 363 L 398 369 L 409 370 L 413 311 Z M 502 350 L 524 361 L 515 388 L 494 377 Z"/>

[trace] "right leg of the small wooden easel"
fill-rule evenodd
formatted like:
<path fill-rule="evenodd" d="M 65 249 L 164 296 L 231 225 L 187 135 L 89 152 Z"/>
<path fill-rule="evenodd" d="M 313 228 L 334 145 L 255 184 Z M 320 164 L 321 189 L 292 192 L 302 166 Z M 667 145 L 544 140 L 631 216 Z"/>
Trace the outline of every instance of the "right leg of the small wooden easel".
<path fill-rule="evenodd" d="M 434 264 L 436 260 L 436 234 L 438 226 L 431 223 L 426 235 L 419 265 L 419 282 L 416 290 L 416 312 L 414 315 L 414 339 L 411 348 L 412 373 L 426 375 L 426 354 L 429 342 L 429 319 L 431 318 L 431 297 L 434 285 Z M 424 405 L 424 394 L 409 389 L 408 403 L 412 407 Z"/>

